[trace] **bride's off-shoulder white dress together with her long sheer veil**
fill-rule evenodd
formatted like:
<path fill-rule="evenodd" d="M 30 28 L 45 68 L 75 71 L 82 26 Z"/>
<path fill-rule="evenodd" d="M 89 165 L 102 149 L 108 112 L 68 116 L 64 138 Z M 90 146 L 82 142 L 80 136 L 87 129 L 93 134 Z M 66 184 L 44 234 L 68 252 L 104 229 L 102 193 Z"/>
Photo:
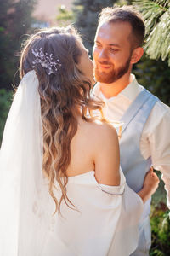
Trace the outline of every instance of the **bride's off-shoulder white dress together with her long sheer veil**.
<path fill-rule="evenodd" d="M 94 171 L 69 177 L 77 210 L 54 201 L 42 176 L 42 119 L 34 71 L 14 96 L 0 151 L 0 256 L 128 256 L 138 244 L 143 202 L 121 172 L 120 186 L 97 183 Z M 57 186 L 57 184 L 56 184 Z M 60 198 L 59 189 L 56 196 Z"/>

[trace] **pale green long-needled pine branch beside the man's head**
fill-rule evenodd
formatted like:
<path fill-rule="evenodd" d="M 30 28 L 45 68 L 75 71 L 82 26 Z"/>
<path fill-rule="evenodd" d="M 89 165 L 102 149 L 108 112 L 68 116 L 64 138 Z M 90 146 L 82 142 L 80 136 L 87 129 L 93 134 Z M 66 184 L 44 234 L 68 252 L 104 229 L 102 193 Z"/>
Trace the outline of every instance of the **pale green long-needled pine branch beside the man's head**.
<path fill-rule="evenodd" d="M 146 25 L 144 49 L 151 59 L 167 60 L 170 66 L 170 3 L 167 0 L 134 0 Z"/>

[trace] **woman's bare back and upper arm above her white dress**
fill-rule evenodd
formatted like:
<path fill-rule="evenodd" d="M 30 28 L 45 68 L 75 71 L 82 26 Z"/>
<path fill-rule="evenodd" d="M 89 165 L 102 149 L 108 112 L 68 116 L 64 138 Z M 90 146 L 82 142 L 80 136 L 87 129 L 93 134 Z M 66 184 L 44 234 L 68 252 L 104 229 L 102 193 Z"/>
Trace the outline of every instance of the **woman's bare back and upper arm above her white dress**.
<path fill-rule="evenodd" d="M 78 130 L 71 141 L 71 163 L 67 176 L 95 171 L 99 183 L 119 184 L 119 146 L 116 130 L 101 122 L 78 119 Z"/>

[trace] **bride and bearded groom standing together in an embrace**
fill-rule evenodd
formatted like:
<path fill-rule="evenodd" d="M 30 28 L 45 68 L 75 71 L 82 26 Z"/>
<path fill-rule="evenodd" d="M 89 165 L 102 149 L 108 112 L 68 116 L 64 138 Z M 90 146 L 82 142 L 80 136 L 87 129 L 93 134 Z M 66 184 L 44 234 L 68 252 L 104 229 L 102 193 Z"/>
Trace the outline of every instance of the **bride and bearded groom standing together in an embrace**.
<path fill-rule="evenodd" d="M 131 74 L 143 40 L 122 7 L 102 10 L 94 63 L 71 26 L 26 42 L 0 153 L 1 255 L 149 255 L 150 166 L 170 207 L 170 111 Z"/>

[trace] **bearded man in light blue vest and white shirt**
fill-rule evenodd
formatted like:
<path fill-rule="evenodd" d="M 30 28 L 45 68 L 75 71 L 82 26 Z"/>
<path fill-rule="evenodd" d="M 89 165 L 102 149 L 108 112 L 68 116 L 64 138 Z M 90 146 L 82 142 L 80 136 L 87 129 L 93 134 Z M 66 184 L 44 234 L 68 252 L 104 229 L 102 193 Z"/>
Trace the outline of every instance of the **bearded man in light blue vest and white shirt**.
<path fill-rule="evenodd" d="M 131 74 L 142 57 L 144 21 L 131 7 L 103 9 L 94 42 L 94 95 L 105 102 L 105 117 L 122 121 L 121 166 L 136 192 L 154 166 L 161 171 L 170 207 L 170 108 L 139 85 Z M 139 223 L 139 246 L 133 256 L 149 255 L 150 200 Z"/>

